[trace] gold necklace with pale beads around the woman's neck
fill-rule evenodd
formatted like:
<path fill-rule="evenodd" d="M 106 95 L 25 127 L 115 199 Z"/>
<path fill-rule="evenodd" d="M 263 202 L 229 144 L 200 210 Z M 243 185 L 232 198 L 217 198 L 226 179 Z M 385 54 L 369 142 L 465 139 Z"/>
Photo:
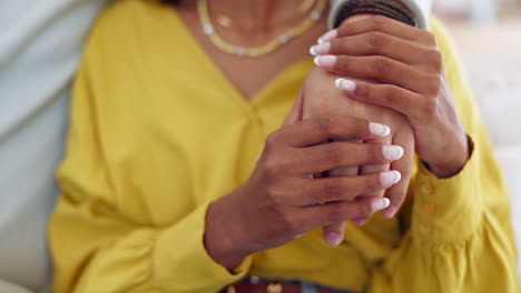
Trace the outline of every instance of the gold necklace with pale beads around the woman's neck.
<path fill-rule="evenodd" d="M 197 0 L 197 12 L 199 13 L 203 31 L 217 49 L 228 54 L 256 58 L 272 53 L 283 44 L 287 43 L 289 40 L 302 36 L 304 32 L 311 29 L 313 24 L 315 24 L 322 18 L 326 4 L 327 0 L 318 0 L 315 8 L 309 12 L 308 17 L 301 24 L 289 29 L 285 33 L 278 36 L 264 46 L 253 48 L 230 44 L 217 34 L 209 17 L 208 0 Z"/>

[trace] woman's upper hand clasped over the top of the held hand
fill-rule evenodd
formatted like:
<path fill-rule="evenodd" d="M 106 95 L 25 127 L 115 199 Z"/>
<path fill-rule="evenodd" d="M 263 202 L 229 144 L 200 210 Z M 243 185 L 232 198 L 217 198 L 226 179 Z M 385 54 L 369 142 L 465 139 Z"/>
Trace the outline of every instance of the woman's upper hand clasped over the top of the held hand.
<path fill-rule="evenodd" d="M 450 178 L 469 159 L 442 55 L 433 34 L 380 16 L 345 21 L 312 48 L 315 62 L 331 73 L 381 82 L 343 80 L 353 99 L 407 117 L 420 159 L 439 178 Z"/>

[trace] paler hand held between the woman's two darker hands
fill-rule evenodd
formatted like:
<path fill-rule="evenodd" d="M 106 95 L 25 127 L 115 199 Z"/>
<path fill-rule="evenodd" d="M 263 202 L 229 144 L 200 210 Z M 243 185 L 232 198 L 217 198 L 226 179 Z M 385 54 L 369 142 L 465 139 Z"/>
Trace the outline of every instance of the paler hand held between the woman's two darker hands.
<path fill-rule="evenodd" d="M 335 170 L 330 170 L 327 176 L 337 175 L 356 175 L 370 174 L 374 172 L 386 171 L 390 168 L 396 170 L 402 174 L 400 183 L 385 190 L 385 196 L 391 200 L 391 206 L 384 211 L 387 218 L 394 216 L 399 211 L 403 201 L 405 200 L 409 182 L 412 175 L 412 168 L 414 162 L 414 133 L 407 119 L 389 108 L 361 102 L 354 99 L 345 99 L 342 91 L 334 87 L 337 75 L 327 73 L 321 68 L 314 68 L 307 75 L 299 97 L 303 100 L 303 119 L 317 118 L 321 115 L 348 115 L 370 121 L 375 121 L 390 127 L 389 135 L 375 140 L 362 140 L 358 142 L 395 144 L 402 149 L 397 149 L 403 155 L 400 160 L 390 164 L 377 165 L 361 165 L 347 166 Z M 392 155 L 392 154 L 390 154 Z M 362 194 L 360 198 L 366 196 L 383 196 L 384 191 L 377 191 L 370 194 Z M 356 225 L 363 225 L 368 218 L 355 219 L 353 221 Z M 331 245 L 337 245 L 343 239 L 345 233 L 345 223 L 334 223 L 324 226 L 324 239 Z"/>

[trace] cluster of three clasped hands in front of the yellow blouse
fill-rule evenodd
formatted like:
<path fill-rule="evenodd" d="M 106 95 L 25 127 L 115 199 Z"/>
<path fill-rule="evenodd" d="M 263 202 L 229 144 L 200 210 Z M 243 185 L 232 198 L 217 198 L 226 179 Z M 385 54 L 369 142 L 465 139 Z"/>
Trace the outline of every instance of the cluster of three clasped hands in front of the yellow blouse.
<path fill-rule="evenodd" d="M 414 153 L 439 178 L 469 158 L 430 32 L 353 17 L 311 52 L 317 67 L 250 179 L 208 209 L 205 244 L 227 269 L 317 228 L 338 245 L 346 221 L 393 218 Z"/>

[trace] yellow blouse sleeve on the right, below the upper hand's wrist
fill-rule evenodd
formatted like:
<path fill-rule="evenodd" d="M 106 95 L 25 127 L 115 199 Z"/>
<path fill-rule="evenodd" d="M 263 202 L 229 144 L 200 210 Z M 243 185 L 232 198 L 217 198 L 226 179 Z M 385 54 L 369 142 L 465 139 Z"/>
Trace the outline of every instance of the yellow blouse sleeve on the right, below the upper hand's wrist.
<path fill-rule="evenodd" d="M 419 163 L 409 232 L 373 269 L 368 292 L 520 292 L 509 194 L 454 46 L 438 21 L 432 26 L 473 153 L 448 180 Z"/>

